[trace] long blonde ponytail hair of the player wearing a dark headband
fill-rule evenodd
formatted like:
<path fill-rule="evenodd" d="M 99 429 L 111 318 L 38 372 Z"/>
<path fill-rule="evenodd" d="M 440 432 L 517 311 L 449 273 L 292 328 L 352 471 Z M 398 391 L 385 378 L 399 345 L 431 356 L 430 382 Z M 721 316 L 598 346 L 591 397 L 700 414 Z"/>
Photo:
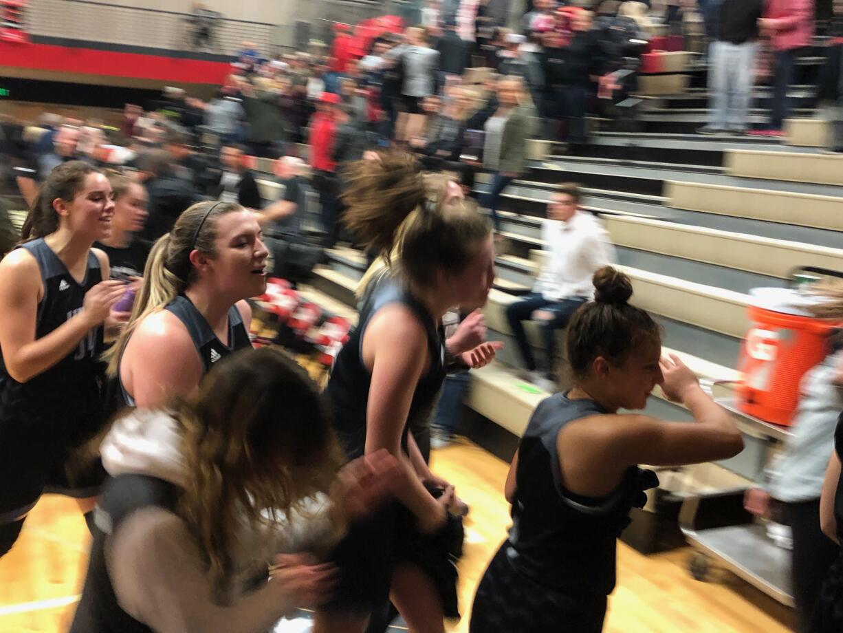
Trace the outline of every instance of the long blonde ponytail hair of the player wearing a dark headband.
<path fill-rule="evenodd" d="M 132 317 L 123 327 L 120 338 L 103 354 L 109 363 L 110 376 L 117 375 L 120 355 L 137 323 L 148 314 L 163 309 L 196 281 L 191 252 L 196 250 L 214 257 L 217 221 L 225 214 L 242 210 L 237 203 L 196 203 L 179 216 L 173 230 L 155 242 L 143 269 L 143 284 L 132 306 Z"/>

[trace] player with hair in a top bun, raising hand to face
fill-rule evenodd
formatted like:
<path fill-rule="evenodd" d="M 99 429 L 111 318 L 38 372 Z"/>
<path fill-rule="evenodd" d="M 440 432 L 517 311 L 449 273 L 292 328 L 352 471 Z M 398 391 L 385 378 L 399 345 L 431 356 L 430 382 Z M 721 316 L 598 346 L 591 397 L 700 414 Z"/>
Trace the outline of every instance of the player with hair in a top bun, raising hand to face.
<path fill-rule="evenodd" d="M 678 357 L 661 357 L 658 326 L 629 304 L 625 274 L 601 268 L 594 300 L 568 326 L 574 386 L 536 408 L 506 484 L 513 527 L 477 589 L 472 633 L 599 633 L 615 587 L 615 540 L 631 507 L 658 484 L 638 463 L 733 457 L 743 440 Z M 695 423 L 640 409 L 656 385 Z"/>

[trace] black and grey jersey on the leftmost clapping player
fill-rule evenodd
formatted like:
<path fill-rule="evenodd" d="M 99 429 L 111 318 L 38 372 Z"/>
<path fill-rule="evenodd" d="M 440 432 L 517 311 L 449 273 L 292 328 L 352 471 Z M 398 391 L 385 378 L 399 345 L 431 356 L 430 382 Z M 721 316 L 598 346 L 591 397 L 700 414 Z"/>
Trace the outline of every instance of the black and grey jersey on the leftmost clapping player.
<path fill-rule="evenodd" d="M 102 270 L 97 256 L 89 251 L 88 268 L 85 270 L 84 279 L 79 283 L 73 279 L 64 262 L 52 252 L 43 238 L 26 242 L 19 248 L 30 252 L 40 269 L 44 296 L 38 304 L 35 317 L 35 338 L 43 338 L 82 311 L 85 293 L 102 281 Z M 99 325 L 89 330 L 76 349 L 56 365 L 24 383 L 15 381 L 8 375 L 0 354 L 0 393 L 3 407 L 26 404 L 30 408 L 43 408 L 51 403 L 73 398 L 74 391 L 80 385 L 99 380 L 103 365 L 98 357 L 102 350 L 103 327 Z"/>

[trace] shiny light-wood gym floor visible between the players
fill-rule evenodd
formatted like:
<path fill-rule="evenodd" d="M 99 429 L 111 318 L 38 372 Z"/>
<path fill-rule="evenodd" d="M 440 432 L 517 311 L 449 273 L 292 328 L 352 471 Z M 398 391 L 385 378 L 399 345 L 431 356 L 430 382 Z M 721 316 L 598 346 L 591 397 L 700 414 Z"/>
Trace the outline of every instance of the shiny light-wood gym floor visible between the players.
<path fill-rule="evenodd" d="M 462 621 L 467 631 L 474 588 L 509 525 L 503 500 L 507 464 L 461 441 L 434 452 L 433 469 L 471 506 L 460 563 Z M 70 625 L 82 587 L 88 530 L 75 503 L 46 495 L 18 543 L 0 559 L 0 631 L 56 633 Z M 610 598 L 607 633 L 785 633 L 792 614 L 727 573 L 695 582 L 687 549 L 643 556 L 619 544 L 618 587 Z M 517 633 L 517 631 L 513 631 Z"/>

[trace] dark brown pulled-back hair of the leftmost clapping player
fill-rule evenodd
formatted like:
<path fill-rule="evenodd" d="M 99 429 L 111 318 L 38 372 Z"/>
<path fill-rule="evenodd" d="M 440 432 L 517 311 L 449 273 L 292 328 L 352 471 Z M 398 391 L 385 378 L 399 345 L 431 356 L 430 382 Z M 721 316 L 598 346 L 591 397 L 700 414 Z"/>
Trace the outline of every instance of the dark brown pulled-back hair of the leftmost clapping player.
<path fill-rule="evenodd" d="M 38 189 L 38 195 L 20 230 L 20 241 L 35 240 L 55 233 L 60 218 L 53 208 L 53 201 L 58 198 L 71 202 L 83 190 L 88 175 L 95 173 L 99 173 L 99 170 L 82 160 L 68 160 L 57 165 Z"/>

